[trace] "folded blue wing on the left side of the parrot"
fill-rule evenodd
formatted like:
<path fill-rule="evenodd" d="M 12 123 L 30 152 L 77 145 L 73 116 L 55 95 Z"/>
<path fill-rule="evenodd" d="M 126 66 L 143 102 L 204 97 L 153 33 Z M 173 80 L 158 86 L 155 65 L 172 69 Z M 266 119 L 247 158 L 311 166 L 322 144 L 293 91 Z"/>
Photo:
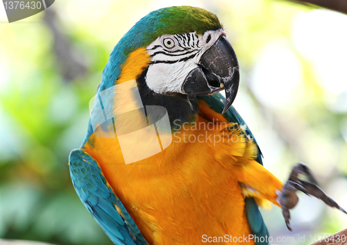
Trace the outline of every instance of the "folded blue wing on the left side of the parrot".
<path fill-rule="evenodd" d="M 108 187 L 96 160 L 76 149 L 70 153 L 69 169 L 79 198 L 114 244 L 147 245 L 124 205 Z"/>

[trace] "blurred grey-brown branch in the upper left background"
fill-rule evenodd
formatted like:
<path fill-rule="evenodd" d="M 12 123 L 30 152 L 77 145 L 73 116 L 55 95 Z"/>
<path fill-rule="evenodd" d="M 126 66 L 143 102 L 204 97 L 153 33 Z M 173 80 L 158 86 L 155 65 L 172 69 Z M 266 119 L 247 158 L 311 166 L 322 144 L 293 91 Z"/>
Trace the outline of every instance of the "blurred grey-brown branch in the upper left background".
<path fill-rule="evenodd" d="M 53 36 L 53 51 L 62 77 L 66 81 L 73 81 L 85 74 L 87 64 L 83 60 L 83 54 L 73 47 L 67 35 L 61 31 L 54 8 L 47 8 L 44 11 L 44 22 Z"/>

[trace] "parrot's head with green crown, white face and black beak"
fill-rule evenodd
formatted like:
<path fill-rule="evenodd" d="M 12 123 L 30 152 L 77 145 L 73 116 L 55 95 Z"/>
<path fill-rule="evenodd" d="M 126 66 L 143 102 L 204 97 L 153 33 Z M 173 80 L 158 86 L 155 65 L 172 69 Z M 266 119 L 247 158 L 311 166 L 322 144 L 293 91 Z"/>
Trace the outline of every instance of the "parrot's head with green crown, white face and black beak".
<path fill-rule="evenodd" d="M 189 121 L 198 112 L 196 96 L 225 90 L 223 113 L 230 108 L 239 86 L 239 65 L 216 15 L 176 6 L 149 13 L 121 38 L 99 91 L 130 79 L 137 81 L 145 105 L 164 106 L 171 121 Z"/>

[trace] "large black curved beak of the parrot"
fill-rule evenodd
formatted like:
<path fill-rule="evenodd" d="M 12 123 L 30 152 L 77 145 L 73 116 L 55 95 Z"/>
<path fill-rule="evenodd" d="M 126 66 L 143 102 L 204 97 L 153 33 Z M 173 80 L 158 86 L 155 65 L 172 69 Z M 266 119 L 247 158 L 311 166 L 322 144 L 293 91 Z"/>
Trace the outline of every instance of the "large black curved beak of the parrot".
<path fill-rule="evenodd" d="M 198 66 L 185 78 L 183 92 L 210 95 L 225 89 L 226 101 L 222 112 L 225 113 L 239 88 L 239 63 L 226 37 L 221 35 L 212 47 L 205 51 Z"/>

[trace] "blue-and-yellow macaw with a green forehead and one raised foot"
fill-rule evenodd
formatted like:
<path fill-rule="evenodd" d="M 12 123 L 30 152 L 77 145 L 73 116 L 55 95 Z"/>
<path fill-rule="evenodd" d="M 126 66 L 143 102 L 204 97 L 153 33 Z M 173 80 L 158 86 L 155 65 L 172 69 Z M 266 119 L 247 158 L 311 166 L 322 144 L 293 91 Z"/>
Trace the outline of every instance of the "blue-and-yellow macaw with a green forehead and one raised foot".
<path fill-rule="evenodd" d="M 285 185 L 263 167 L 232 107 L 238 85 L 235 51 L 207 10 L 153 11 L 119 40 L 69 155 L 78 196 L 114 244 L 268 244 L 258 205 L 278 205 L 291 229 L 296 190 L 342 210 L 305 164 Z"/>

